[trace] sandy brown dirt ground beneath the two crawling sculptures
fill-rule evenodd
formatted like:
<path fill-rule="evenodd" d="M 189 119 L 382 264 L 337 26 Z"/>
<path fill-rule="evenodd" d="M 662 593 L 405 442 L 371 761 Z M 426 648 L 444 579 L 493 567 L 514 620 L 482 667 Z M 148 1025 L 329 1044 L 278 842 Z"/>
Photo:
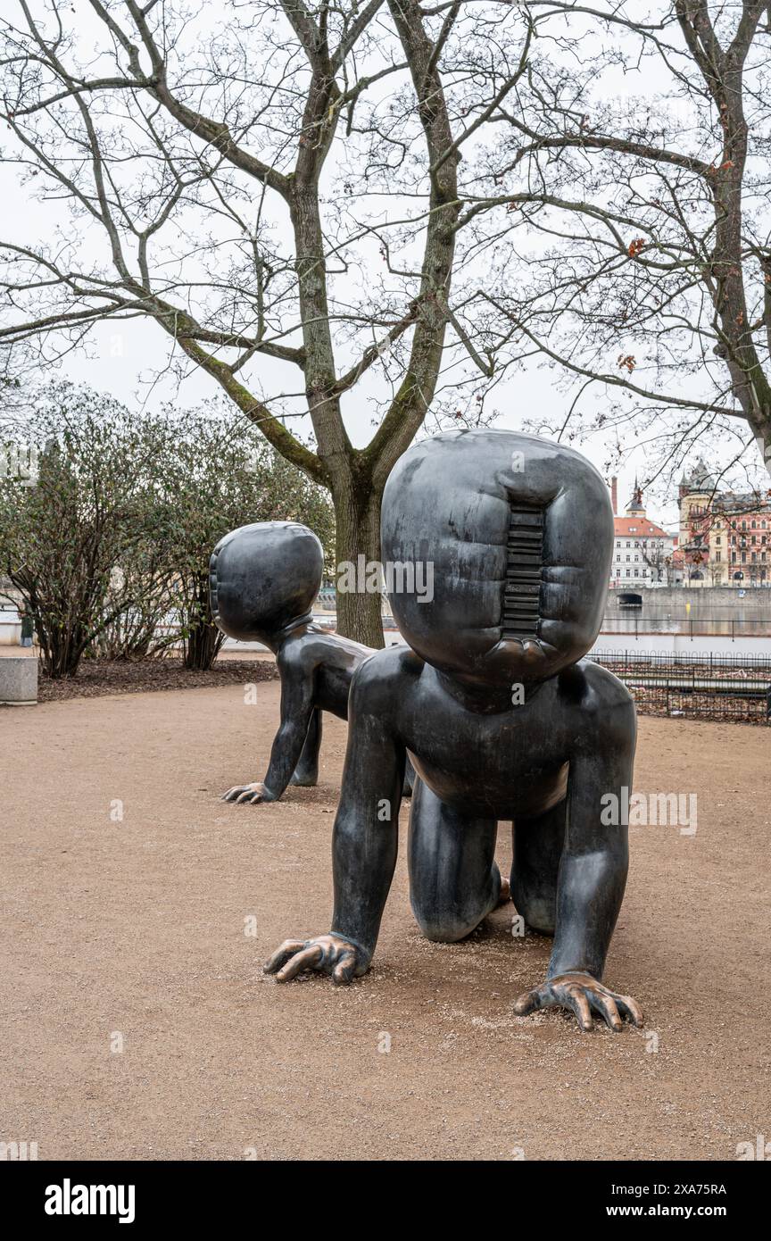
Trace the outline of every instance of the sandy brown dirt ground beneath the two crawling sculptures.
<path fill-rule="evenodd" d="M 366 979 L 263 978 L 280 939 L 328 930 L 346 732 L 325 721 L 317 789 L 219 803 L 263 774 L 278 696 L 0 712 L 0 1140 L 41 1159 L 657 1160 L 771 1138 L 765 730 L 641 720 L 636 788 L 697 792 L 698 830 L 631 829 L 607 980 L 648 1034 L 581 1036 L 512 1016 L 549 942 L 513 942 L 511 906 L 462 944 L 419 937 L 404 849 Z"/>

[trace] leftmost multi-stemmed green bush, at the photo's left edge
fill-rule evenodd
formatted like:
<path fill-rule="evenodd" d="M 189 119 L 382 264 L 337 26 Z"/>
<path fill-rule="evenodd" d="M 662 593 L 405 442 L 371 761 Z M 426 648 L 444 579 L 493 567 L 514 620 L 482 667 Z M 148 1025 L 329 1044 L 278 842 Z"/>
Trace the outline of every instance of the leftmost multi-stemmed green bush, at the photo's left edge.
<path fill-rule="evenodd" d="M 50 676 L 74 675 L 134 602 L 136 582 L 120 583 L 115 568 L 146 536 L 152 433 L 110 397 L 62 382 L 6 421 L 4 459 L 24 457 L 31 477 L 0 477 L 0 572 L 35 623 Z"/>

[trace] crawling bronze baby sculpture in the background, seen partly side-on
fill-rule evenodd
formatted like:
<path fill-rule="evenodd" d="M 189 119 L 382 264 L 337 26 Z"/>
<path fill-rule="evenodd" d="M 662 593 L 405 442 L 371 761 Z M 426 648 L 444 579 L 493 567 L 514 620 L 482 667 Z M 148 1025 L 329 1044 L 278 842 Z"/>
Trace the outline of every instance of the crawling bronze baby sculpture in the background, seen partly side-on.
<path fill-rule="evenodd" d="M 319 778 L 321 712 L 348 717 L 348 690 L 369 647 L 311 619 L 324 551 L 296 521 L 255 521 L 221 539 L 209 563 L 212 616 L 231 638 L 263 642 L 281 676 L 281 722 L 264 781 L 237 784 L 226 802 L 278 802 L 288 784 Z M 409 779 L 404 792 L 410 793 Z"/>

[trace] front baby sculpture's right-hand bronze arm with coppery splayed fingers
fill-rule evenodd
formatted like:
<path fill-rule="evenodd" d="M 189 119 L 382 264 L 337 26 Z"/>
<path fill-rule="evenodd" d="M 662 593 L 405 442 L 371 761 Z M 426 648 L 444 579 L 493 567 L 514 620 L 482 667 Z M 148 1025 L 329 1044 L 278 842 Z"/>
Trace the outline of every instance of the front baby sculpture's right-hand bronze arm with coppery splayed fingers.
<path fill-rule="evenodd" d="M 514 1005 L 521 1016 L 539 1008 L 568 1008 L 584 1030 L 591 1029 L 593 1013 L 614 1030 L 621 1029 L 622 1016 L 642 1024 L 635 1000 L 600 982 L 626 886 L 628 833 L 619 820 L 628 805 L 635 753 L 633 706 L 616 704 L 610 714 L 611 736 L 590 730 L 594 748 L 570 759 L 552 959 L 545 983 Z"/>

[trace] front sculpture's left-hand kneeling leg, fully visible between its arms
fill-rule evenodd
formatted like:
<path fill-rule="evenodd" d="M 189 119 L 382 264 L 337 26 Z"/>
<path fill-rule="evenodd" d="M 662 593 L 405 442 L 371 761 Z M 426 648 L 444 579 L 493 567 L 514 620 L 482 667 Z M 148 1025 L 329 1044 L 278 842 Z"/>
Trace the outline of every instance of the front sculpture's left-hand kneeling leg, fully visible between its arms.
<path fill-rule="evenodd" d="M 464 939 L 498 903 L 498 824 L 445 805 L 415 778 L 409 817 L 413 913 L 426 939 Z"/>

